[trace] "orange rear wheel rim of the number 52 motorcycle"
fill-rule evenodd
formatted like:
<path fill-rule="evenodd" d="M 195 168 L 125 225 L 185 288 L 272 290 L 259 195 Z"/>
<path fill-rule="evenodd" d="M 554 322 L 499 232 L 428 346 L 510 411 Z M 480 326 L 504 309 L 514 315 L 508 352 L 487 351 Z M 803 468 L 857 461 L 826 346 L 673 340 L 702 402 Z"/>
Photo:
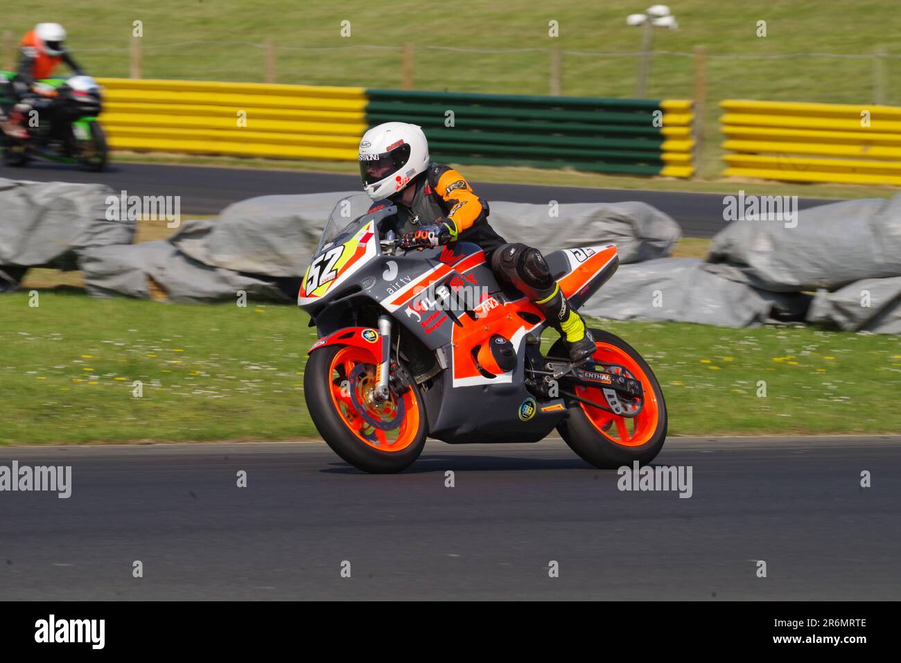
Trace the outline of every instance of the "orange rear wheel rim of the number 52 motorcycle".
<path fill-rule="evenodd" d="M 597 351 L 592 357 L 597 363 L 619 364 L 642 383 L 642 398 L 644 399 L 642 412 L 630 419 L 629 417 L 621 417 L 612 412 L 592 407 L 586 403 L 579 403 L 579 406 L 587 416 L 588 421 L 607 440 L 615 444 L 621 444 L 624 447 L 640 447 L 648 440 L 651 440 L 651 436 L 657 430 L 657 423 L 660 419 L 660 403 L 658 402 L 657 394 L 651 386 L 651 380 L 638 365 L 638 362 L 624 350 L 601 341 L 597 341 L 596 346 Z M 577 386 L 576 395 L 595 403 L 606 403 L 604 393 L 598 387 Z"/>

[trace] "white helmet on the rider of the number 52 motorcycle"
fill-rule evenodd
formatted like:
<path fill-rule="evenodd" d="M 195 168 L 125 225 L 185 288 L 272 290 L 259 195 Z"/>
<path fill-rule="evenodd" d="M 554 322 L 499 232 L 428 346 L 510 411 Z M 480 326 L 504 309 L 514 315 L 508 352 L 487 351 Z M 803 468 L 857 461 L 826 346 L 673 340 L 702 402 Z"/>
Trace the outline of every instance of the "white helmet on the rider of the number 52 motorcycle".
<path fill-rule="evenodd" d="M 387 122 L 363 134 L 358 159 L 363 190 L 376 200 L 387 198 L 429 168 L 429 143 L 415 124 Z"/>

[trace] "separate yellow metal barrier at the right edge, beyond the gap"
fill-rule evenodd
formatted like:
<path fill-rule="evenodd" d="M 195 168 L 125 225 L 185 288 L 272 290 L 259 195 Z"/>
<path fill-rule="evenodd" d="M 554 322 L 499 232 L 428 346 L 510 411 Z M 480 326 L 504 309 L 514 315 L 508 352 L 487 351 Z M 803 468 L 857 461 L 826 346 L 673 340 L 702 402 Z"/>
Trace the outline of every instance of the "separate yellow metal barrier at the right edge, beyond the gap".
<path fill-rule="evenodd" d="M 725 100 L 726 177 L 901 185 L 901 108 Z"/>

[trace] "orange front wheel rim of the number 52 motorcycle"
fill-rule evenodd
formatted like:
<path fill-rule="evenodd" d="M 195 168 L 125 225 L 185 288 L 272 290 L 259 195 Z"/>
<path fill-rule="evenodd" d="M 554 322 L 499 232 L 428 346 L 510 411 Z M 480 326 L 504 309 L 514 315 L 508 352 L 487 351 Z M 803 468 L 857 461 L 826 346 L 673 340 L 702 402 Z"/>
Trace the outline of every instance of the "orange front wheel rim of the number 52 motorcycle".
<path fill-rule="evenodd" d="M 398 400 L 392 392 L 391 399 L 384 404 L 375 403 L 371 398 L 371 390 L 375 385 L 376 365 L 373 356 L 362 348 L 344 346 L 332 358 L 329 368 L 329 393 L 335 412 L 350 432 L 362 443 L 379 451 L 400 451 L 409 447 L 419 432 L 419 404 L 413 389 L 401 397 L 404 404 L 404 418 L 392 430 L 385 431 L 374 427 L 357 410 L 350 396 L 350 390 L 356 390 L 357 402 L 362 404 L 366 413 L 379 422 L 391 422 L 397 415 Z M 350 384 L 350 374 L 362 365 L 363 373 Z"/>

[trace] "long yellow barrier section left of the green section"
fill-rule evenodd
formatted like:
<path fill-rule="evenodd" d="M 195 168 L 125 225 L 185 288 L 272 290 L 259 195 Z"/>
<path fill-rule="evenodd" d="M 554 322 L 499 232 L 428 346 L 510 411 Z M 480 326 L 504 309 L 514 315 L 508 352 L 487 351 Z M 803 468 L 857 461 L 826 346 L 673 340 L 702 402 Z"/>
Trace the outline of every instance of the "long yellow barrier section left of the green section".
<path fill-rule="evenodd" d="M 350 160 L 367 126 L 363 87 L 98 80 L 114 150 Z"/>

